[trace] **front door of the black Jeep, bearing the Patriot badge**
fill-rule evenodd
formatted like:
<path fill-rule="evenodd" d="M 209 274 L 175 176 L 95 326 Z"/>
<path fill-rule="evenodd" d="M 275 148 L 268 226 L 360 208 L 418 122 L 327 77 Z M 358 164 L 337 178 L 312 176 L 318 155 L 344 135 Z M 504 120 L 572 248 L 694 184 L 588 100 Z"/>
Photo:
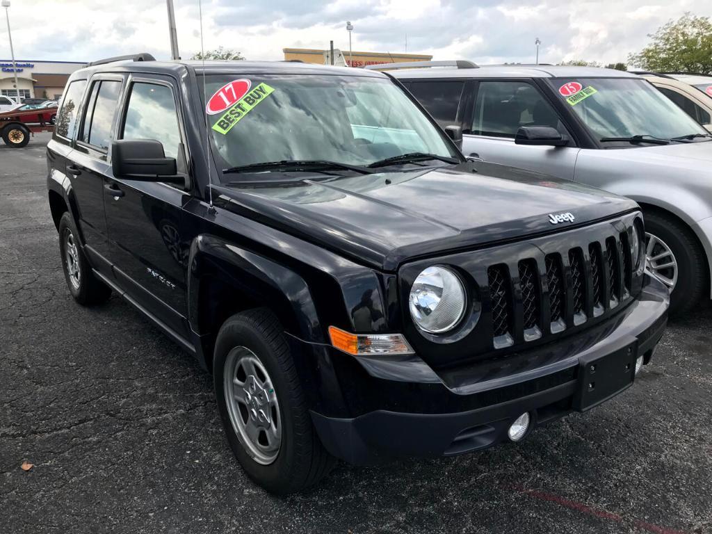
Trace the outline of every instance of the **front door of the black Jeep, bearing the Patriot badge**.
<path fill-rule="evenodd" d="M 185 172 L 177 88 L 170 78 L 132 76 L 118 121 L 118 139 L 152 139 Z M 185 260 L 181 211 L 189 199 L 172 185 L 108 174 L 105 187 L 110 261 L 122 288 L 149 313 L 182 337 L 185 321 Z"/>

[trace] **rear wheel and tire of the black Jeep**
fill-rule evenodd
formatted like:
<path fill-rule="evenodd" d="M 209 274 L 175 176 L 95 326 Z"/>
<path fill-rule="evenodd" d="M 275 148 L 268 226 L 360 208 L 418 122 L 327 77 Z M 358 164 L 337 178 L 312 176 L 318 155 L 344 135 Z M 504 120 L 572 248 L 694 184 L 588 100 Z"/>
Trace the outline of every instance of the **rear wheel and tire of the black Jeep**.
<path fill-rule="evenodd" d="M 74 300 L 84 306 L 101 304 L 111 296 L 111 288 L 94 274 L 79 243 L 78 232 L 68 211 L 59 219 L 59 250 L 64 278 Z"/>

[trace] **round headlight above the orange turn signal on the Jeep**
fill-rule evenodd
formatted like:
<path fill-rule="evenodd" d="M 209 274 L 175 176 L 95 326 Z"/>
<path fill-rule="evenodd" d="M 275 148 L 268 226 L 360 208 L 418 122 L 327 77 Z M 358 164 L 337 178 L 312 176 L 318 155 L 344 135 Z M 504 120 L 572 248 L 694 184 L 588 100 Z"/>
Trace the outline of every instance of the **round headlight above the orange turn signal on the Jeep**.
<path fill-rule="evenodd" d="M 410 315 L 427 333 L 447 332 L 465 313 L 465 288 L 449 268 L 432 266 L 418 275 L 410 290 Z"/>

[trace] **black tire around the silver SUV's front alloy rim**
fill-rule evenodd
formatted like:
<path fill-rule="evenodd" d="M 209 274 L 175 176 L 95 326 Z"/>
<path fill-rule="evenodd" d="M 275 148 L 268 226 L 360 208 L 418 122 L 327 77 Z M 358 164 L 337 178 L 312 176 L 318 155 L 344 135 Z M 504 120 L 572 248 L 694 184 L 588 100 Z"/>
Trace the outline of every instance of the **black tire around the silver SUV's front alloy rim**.
<path fill-rule="evenodd" d="M 677 283 L 670 295 L 670 316 L 680 317 L 696 305 L 706 288 L 707 260 L 695 236 L 684 224 L 657 211 L 646 211 L 645 231 L 670 247 L 677 261 Z"/>

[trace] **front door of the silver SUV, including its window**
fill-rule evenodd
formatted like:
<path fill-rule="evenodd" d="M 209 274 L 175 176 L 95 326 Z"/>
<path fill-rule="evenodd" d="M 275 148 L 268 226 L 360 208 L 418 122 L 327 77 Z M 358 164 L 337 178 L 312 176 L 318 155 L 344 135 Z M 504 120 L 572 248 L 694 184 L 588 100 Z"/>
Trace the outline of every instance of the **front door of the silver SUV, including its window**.
<path fill-rule="evenodd" d="M 486 162 L 573 179 L 579 148 L 550 101 L 530 80 L 479 80 L 463 128 L 462 152 Z M 566 147 L 515 145 L 522 126 L 550 126 Z"/>

